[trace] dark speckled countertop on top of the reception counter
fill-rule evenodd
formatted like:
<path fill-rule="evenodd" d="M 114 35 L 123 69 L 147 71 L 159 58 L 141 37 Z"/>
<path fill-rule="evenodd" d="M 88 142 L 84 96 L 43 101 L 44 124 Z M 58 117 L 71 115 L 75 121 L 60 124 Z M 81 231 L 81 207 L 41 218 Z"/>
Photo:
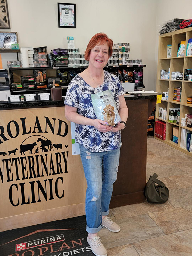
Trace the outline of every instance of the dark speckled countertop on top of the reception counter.
<path fill-rule="evenodd" d="M 157 95 L 162 93 L 155 94 L 134 94 L 134 95 L 125 95 L 125 100 L 143 100 L 143 99 L 156 99 Z M 165 94 L 162 94 L 164 97 Z M 1 103 L 0 110 L 13 109 L 13 108 L 34 108 L 34 107 L 60 107 L 65 106 L 64 100 L 58 101 L 36 101 L 36 102 L 15 102 L 15 103 Z"/>

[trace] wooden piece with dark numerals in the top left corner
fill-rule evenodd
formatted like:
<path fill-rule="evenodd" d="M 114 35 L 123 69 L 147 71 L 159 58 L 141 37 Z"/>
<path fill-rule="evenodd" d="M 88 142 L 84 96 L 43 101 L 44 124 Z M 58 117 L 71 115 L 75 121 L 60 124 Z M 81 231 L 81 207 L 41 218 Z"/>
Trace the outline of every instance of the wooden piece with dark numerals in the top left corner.
<path fill-rule="evenodd" d="M 7 0 L 0 0 L 0 29 L 10 28 Z"/>

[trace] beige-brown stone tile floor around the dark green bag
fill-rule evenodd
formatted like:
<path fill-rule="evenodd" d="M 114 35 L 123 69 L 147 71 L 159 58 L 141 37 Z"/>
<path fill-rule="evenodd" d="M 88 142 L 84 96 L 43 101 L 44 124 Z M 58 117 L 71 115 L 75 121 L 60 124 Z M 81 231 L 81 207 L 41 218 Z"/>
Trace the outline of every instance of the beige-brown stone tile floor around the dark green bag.
<path fill-rule="evenodd" d="M 192 255 L 192 159 L 148 136 L 146 181 L 154 173 L 169 188 L 168 201 L 111 209 L 121 231 L 99 232 L 108 256 Z"/>

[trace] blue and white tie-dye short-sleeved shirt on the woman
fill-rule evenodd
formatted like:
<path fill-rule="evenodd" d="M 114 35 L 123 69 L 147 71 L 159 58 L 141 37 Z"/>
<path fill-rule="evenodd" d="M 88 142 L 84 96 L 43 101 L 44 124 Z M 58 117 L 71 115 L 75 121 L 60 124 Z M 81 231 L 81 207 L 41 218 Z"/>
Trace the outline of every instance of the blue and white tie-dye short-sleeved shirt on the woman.
<path fill-rule="evenodd" d="M 104 81 L 101 91 L 111 90 L 116 108 L 119 110 L 118 96 L 125 94 L 124 88 L 117 76 L 104 71 Z M 78 74 L 68 85 L 64 104 L 77 108 L 77 113 L 91 119 L 97 119 L 92 105 L 91 94 L 98 93 L 98 88 L 92 88 Z M 94 126 L 76 124 L 75 139 L 91 152 L 103 152 L 120 147 L 121 132 L 100 132 Z"/>

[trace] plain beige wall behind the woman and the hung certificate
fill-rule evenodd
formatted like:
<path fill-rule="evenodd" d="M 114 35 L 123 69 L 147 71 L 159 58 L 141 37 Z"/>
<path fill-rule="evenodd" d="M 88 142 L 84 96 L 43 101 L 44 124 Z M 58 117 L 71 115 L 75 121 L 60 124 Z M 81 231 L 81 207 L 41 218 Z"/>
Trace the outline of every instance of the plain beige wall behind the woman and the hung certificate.
<path fill-rule="evenodd" d="M 10 31 L 17 31 L 21 46 L 67 48 L 66 36 L 74 36 L 75 47 L 83 54 L 90 38 L 105 32 L 114 43 L 130 42 L 133 59 L 142 59 L 144 84 L 156 88 L 158 36 L 156 24 L 175 17 L 189 18 L 182 3 L 191 1 L 156 0 L 73 0 L 76 3 L 76 28 L 58 28 L 57 0 L 9 0 Z M 67 1 L 70 2 L 70 1 Z M 186 15 L 186 16 L 185 16 Z M 16 54 L 3 53 L 6 61 Z M 155 74 L 155 75 L 154 75 Z"/>

